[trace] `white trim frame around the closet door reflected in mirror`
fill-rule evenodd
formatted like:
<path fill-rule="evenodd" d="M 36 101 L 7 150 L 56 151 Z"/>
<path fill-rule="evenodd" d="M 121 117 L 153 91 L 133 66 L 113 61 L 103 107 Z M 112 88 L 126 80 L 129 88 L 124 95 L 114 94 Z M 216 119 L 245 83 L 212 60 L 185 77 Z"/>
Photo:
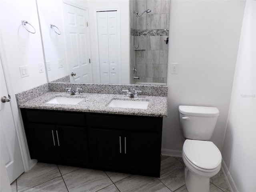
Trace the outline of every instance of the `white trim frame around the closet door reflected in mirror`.
<path fill-rule="evenodd" d="M 118 78 L 119 83 L 121 83 L 122 74 L 122 64 L 121 64 L 121 39 L 120 39 L 120 8 L 98 8 L 94 9 L 94 30 L 95 30 L 95 52 L 96 52 L 96 69 L 97 69 L 97 81 L 100 83 L 100 58 L 99 58 L 99 44 L 98 44 L 98 22 L 97 22 L 97 12 L 98 11 L 117 11 L 118 19 Z"/>

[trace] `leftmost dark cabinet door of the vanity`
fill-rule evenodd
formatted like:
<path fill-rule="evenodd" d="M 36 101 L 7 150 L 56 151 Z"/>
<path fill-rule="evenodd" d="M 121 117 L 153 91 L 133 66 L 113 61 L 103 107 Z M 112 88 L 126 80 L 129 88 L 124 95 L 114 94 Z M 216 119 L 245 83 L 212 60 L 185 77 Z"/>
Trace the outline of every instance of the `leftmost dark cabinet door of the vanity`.
<path fill-rule="evenodd" d="M 48 124 L 28 124 L 32 147 L 31 158 L 45 161 L 58 161 L 60 153 L 55 126 Z M 30 148 L 31 148 L 30 147 Z"/>

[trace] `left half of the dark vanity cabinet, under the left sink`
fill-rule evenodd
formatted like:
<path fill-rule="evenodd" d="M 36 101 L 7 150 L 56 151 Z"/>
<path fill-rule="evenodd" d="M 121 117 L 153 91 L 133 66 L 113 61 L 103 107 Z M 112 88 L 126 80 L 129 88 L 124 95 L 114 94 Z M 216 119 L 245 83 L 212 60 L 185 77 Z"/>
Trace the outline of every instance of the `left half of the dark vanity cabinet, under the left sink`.
<path fill-rule="evenodd" d="M 21 112 L 31 158 L 74 166 L 88 164 L 85 114 L 33 109 Z"/>

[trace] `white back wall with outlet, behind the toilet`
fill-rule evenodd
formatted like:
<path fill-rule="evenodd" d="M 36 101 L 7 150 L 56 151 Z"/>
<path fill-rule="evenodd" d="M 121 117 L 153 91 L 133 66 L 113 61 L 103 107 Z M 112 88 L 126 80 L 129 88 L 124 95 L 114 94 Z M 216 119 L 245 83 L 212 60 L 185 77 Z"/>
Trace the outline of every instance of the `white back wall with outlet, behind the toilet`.
<path fill-rule="evenodd" d="M 220 110 L 211 140 L 222 150 L 244 5 L 236 0 L 171 0 L 163 154 L 181 155 L 179 105 Z M 171 63 L 178 63 L 178 74 L 170 74 Z"/>

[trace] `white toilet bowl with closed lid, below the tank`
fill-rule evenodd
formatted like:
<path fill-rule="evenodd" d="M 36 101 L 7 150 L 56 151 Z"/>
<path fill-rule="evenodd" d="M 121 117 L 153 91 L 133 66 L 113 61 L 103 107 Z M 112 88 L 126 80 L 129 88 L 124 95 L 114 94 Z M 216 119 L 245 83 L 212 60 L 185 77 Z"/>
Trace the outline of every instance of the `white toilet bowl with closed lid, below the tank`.
<path fill-rule="evenodd" d="M 185 183 L 188 192 L 209 192 L 210 178 L 221 168 L 222 156 L 210 141 L 185 140 L 182 159 L 186 165 Z"/>

